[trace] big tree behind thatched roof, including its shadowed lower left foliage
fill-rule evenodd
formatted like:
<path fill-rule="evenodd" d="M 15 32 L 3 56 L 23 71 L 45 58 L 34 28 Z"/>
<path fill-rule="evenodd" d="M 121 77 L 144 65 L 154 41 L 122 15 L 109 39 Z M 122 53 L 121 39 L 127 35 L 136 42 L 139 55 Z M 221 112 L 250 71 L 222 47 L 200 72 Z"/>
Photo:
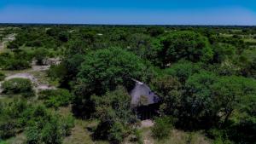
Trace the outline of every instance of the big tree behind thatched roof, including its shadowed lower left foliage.
<path fill-rule="evenodd" d="M 153 74 L 141 58 L 124 49 L 100 49 L 91 52 L 85 56 L 81 65 L 73 112 L 79 115 L 87 112 L 90 115 L 94 111 L 90 107 L 90 95 L 104 95 L 118 85 L 131 89 L 134 84 L 131 78 L 147 82 Z"/>

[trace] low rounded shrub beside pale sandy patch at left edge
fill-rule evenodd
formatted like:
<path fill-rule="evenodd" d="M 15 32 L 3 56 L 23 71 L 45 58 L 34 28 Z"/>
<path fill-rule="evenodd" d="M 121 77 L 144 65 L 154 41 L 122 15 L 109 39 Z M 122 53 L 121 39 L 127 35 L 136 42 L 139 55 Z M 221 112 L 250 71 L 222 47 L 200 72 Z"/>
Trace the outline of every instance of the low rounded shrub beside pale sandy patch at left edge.
<path fill-rule="evenodd" d="M 13 78 L 2 84 L 3 94 L 23 94 L 27 96 L 34 95 L 32 82 L 25 78 Z"/>

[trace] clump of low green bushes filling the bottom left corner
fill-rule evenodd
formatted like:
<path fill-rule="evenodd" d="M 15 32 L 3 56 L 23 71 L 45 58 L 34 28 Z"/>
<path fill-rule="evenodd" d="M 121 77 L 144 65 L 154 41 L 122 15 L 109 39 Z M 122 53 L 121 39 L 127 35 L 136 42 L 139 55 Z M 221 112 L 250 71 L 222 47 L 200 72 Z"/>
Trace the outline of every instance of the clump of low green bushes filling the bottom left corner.
<path fill-rule="evenodd" d="M 44 105 L 29 104 L 25 99 L 0 102 L 0 116 L 0 141 L 23 133 L 26 143 L 61 144 L 74 126 L 71 115 L 59 115 Z"/>

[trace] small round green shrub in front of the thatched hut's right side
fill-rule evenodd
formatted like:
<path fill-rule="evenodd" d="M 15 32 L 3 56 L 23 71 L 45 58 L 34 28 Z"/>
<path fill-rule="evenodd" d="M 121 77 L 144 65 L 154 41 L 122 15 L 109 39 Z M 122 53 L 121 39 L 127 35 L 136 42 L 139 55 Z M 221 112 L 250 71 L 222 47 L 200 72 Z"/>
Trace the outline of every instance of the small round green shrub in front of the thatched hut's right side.
<path fill-rule="evenodd" d="M 172 118 L 163 117 L 154 119 L 154 127 L 152 133 L 156 139 L 164 139 L 170 135 L 172 130 L 173 120 Z"/>

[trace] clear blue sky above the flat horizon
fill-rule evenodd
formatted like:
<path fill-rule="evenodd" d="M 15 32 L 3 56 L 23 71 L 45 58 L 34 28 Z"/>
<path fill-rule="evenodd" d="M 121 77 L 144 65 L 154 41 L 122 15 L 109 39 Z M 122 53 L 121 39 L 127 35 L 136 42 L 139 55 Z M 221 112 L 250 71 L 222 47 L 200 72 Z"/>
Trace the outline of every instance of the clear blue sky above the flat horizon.
<path fill-rule="evenodd" d="M 256 0 L 0 0 L 0 22 L 256 26 Z"/>

